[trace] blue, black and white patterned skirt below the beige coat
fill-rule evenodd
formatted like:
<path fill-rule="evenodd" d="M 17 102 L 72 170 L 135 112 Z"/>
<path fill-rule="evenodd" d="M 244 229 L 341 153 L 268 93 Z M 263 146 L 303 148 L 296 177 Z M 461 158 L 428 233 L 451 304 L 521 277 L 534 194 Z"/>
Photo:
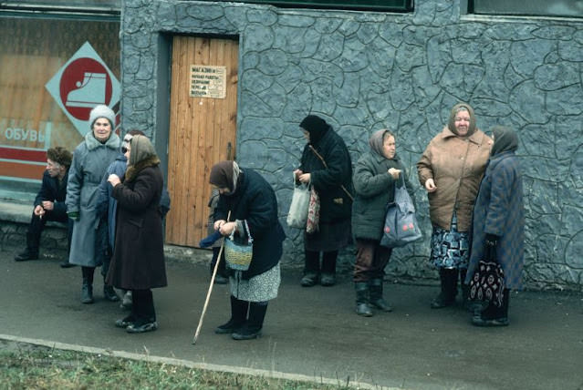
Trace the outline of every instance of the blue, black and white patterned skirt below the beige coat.
<path fill-rule="evenodd" d="M 438 268 L 467 269 L 470 254 L 470 234 L 457 231 L 457 215 L 453 210 L 452 226 L 446 231 L 433 226 L 430 262 Z"/>

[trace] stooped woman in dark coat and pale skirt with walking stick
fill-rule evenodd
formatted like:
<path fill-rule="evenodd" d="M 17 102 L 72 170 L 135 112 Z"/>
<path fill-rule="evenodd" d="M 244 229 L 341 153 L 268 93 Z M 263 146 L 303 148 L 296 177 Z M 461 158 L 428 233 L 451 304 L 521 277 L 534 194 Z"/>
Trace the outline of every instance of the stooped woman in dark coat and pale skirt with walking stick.
<path fill-rule="evenodd" d="M 221 161 L 211 169 L 210 183 L 219 191 L 214 230 L 243 241 L 253 239 L 253 256 L 247 271 L 227 264 L 231 290 L 231 318 L 215 329 L 234 340 L 261 335 L 267 303 L 277 297 L 281 276 L 279 259 L 286 239 L 277 218 L 276 193 L 253 169 L 240 169 L 234 161 Z M 219 259 L 219 261 L 222 261 Z"/>

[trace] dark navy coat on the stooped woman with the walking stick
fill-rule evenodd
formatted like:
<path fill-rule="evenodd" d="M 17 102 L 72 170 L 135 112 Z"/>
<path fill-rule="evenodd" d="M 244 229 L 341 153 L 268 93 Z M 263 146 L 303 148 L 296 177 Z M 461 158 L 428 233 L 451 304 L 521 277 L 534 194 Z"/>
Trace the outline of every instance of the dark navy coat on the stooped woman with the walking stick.
<path fill-rule="evenodd" d="M 221 195 L 214 221 L 247 221 L 253 237 L 253 258 L 243 279 L 271 270 L 283 253 L 282 242 L 286 239 L 277 219 L 276 193 L 269 183 L 253 169 L 241 169 L 237 186 L 232 195 Z"/>

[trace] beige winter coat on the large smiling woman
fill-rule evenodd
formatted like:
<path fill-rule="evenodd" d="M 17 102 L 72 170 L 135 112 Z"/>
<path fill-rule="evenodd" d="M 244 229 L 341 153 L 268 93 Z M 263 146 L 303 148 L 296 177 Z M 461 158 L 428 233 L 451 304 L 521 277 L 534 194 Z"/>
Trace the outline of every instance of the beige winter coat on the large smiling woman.
<path fill-rule="evenodd" d="M 480 129 L 463 139 L 447 126 L 435 136 L 417 163 L 419 182 L 433 179 L 437 190 L 428 192 L 432 224 L 450 230 L 453 207 L 457 202 L 458 231 L 469 231 L 472 210 L 480 188 L 492 139 Z"/>

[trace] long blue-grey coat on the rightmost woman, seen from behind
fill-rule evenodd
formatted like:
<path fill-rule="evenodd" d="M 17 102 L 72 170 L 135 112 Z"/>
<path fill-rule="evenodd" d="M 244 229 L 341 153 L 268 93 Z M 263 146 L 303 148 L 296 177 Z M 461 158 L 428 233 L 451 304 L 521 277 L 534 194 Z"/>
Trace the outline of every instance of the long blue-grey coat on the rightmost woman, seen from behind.
<path fill-rule="evenodd" d="M 495 155 L 486 167 L 474 207 L 472 254 L 466 283 L 484 255 L 486 234 L 500 237 L 496 260 L 505 272 L 506 288 L 520 289 L 525 255 L 525 207 L 522 174 L 512 151 Z"/>

